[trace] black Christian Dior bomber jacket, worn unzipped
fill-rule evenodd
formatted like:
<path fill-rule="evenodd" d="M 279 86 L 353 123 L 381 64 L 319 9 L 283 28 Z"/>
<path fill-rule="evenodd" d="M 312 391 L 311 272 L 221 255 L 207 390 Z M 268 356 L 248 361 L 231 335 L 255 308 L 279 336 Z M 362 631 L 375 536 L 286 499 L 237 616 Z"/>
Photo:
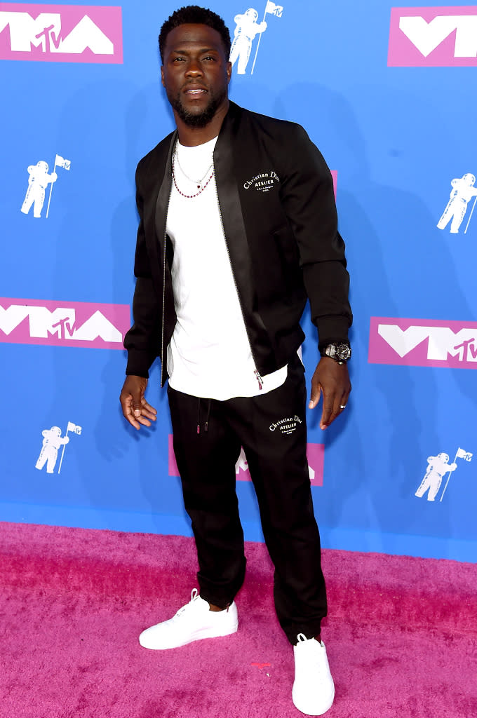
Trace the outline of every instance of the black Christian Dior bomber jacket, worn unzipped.
<path fill-rule="evenodd" d="M 137 166 L 134 324 L 124 338 L 126 374 L 149 376 L 159 356 L 162 384 L 176 321 L 166 232 L 176 140 L 177 131 Z M 300 318 L 307 299 L 320 346 L 346 341 L 352 314 L 333 178 L 305 130 L 231 102 L 213 163 L 224 241 L 256 370 L 264 376 L 292 358 L 305 338 Z"/>

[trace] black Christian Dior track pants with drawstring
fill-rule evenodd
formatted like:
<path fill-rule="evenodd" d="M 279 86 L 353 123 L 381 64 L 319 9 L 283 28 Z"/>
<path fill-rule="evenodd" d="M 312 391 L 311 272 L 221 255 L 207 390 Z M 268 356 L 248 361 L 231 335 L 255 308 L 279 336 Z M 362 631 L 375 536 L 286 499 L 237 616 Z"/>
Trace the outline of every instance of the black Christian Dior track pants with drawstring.
<path fill-rule="evenodd" d="M 279 623 L 292 644 L 298 633 L 318 635 L 327 606 L 305 453 L 306 388 L 299 358 L 290 363 L 284 384 L 262 396 L 217 401 L 170 387 L 167 393 L 185 509 L 198 551 L 200 595 L 225 607 L 244 582 L 235 473 L 243 446 L 275 567 Z"/>

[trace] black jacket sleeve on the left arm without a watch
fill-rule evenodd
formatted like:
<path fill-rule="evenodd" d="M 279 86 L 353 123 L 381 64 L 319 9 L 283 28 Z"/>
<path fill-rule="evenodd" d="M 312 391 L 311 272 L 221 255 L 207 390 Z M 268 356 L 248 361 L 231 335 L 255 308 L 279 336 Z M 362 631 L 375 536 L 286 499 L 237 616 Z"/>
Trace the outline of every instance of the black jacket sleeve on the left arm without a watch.
<path fill-rule="evenodd" d="M 161 313 L 152 281 L 151 263 L 144 235 L 144 198 L 139 186 L 141 162 L 136 169 L 136 205 L 139 213 L 134 276 L 136 288 L 132 303 L 134 324 L 124 337 L 128 353 L 126 374 L 149 377 L 149 368 L 160 351 Z"/>

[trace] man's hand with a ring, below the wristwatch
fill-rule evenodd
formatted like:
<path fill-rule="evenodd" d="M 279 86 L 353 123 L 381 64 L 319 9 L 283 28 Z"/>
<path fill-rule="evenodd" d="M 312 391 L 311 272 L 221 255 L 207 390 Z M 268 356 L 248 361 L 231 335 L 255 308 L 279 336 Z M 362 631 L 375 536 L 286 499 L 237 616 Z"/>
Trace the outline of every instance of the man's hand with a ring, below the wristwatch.
<path fill-rule="evenodd" d="M 326 429 L 338 414 L 341 414 L 342 407 L 348 403 L 350 391 L 351 382 L 346 362 L 338 364 L 330 357 L 322 357 L 312 376 L 311 398 L 310 404 L 308 404 L 308 409 L 314 409 L 323 393 L 320 429 Z"/>

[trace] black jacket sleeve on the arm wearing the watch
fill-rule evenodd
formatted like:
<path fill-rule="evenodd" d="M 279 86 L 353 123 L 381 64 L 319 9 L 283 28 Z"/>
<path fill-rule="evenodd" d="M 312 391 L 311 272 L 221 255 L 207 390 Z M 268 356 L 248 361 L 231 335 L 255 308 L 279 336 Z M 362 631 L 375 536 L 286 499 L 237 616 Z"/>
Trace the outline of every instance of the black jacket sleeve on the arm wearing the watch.
<path fill-rule="evenodd" d="M 338 233 L 333 177 L 323 155 L 300 125 L 287 153 L 281 180 L 285 213 L 297 241 L 312 322 L 320 347 L 348 338 L 353 315 L 348 302 L 345 245 Z"/>

